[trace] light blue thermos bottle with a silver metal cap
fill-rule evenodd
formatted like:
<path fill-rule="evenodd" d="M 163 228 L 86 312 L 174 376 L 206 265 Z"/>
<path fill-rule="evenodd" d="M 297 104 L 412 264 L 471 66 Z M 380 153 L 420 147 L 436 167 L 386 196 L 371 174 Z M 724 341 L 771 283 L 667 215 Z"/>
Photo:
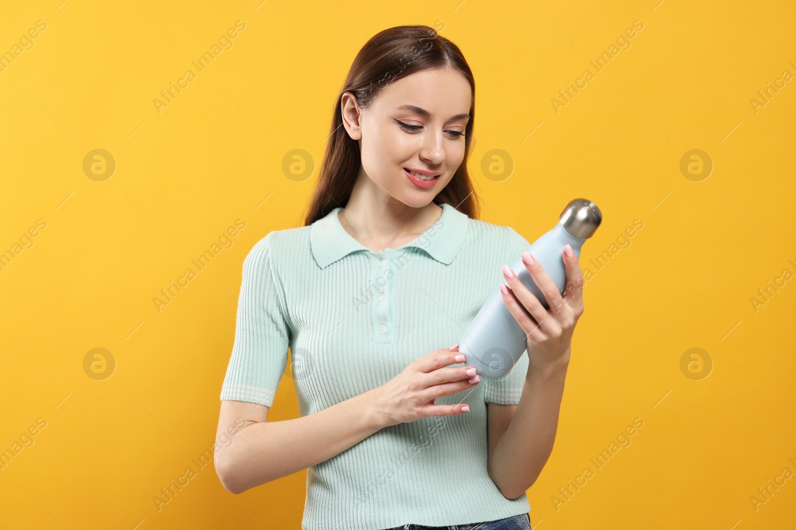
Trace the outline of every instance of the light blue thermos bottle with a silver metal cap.
<path fill-rule="evenodd" d="M 564 259 L 561 257 L 564 246 L 569 243 L 575 255 L 580 257 L 580 247 L 587 238 L 591 238 L 602 220 L 603 214 L 595 203 L 587 199 L 574 199 L 561 212 L 556 226 L 528 249 L 528 253 L 548 273 L 562 295 L 567 281 Z M 547 300 L 533 282 L 528 269 L 525 269 L 522 257 L 517 258 L 511 269 L 544 308 L 549 309 Z M 464 354 L 466 364 L 474 366 L 479 376 L 497 380 L 509 376 L 527 347 L 525 331 L 522 331 L 517 319 L 506 307 L 500 284 L 497 284 L 459 340 L 458 350 Z"/>

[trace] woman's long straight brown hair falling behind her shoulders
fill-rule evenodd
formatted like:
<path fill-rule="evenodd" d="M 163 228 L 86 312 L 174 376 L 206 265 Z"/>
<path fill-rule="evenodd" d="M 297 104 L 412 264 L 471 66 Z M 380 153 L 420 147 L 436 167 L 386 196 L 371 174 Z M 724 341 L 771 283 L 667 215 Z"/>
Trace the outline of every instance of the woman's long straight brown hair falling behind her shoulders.
<path fill-rule="evenodd" d="M 318 184 L 310 199 L 304 219 L 308 226 L 322 219 L 335 207 L 345 207 L 357 179 L 361 157 L 356 140 L 343 127 L 340 102 L 345 92 L 352 92 L 360 108 L 367 108 L 387 84 L 406 75 L 432 68 L 453 68 L 470 82 L 472 103 L 470 120 L 465 127 L 465 149 L 462 164 L 447 186 L 435 196 L 436 204 L 448 203 L 470 219 L 478 219 L 478 197 L 475 195 L 467 159 L 475 118 L 475 80 L 461 50 L 427 25 L 399 25 L 384 29 L 362 46 L 353 60 L 345 83 L 334 100 L 329 143 L 318 173 Z"/>

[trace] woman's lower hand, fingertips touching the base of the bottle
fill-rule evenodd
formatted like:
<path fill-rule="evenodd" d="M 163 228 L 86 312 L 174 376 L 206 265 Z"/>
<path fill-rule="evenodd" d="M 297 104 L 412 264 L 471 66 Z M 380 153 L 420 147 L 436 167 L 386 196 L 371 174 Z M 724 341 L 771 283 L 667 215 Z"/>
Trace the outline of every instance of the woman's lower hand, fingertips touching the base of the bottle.
<path fill-rule="evenodd" d="M 450 396 L 478 385 L 479 378 L 473 366 L 445 368 L 457 362 L 464 362 L 464 354 L 458 352 L 458 344 L 423 355 L 391 381 L 377 387 L 377 404 L 384 418 L 384 427 L 428 416 L 453 416 L 469 411 L 470 407 L 466 403 L 434 403 L 438 397 Z"/>

